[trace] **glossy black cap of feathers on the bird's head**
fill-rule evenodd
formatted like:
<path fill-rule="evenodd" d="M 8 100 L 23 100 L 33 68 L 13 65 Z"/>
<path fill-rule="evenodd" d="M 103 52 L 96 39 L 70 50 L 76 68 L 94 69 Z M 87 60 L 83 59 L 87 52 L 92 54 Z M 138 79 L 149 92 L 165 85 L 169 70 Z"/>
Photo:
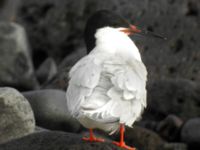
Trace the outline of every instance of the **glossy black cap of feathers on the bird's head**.
<path fill-rule="evenodd" d="M 89 53 L 95 47 L 95 33 L 102 27 L 128 27 L 129 23 L 120 15 L 109 10 L 100 10 L 93 14 L 87 21 L 85 27 L 85 43 Z"/>

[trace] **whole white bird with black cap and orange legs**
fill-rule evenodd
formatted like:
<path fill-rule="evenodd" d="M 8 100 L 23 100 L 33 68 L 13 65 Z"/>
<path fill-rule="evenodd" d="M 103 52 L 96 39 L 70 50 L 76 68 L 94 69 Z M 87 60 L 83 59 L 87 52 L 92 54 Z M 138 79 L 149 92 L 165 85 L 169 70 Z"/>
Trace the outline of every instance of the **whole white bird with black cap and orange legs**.
<path fill-rule="evenodd" d="M 163 38 L 142 31 L 123 17 L 100 10 L 85 28 L 88 55 L 69 72 L 67 106 L 73 117 L 90 131 L 86 141 L 103 142 L 93 129 L 110 134 L 120 129 L 120 141 L 113 144 L 134 150 L 124 142 L 125 126 L 132 127 L 146 107 L 147 70 L 130 35 Z"/>

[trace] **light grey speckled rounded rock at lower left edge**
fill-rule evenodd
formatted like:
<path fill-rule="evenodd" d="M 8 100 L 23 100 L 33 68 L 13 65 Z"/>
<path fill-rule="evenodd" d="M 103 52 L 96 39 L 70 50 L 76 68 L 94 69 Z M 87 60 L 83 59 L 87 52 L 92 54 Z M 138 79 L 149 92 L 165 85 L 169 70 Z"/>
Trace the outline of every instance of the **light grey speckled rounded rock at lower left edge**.
<path fill-rule="evenodd" d="M 30 134 L 34 128 L 34 115 L 25 97 L 13 88 L 0 88 L 0 143 Z"/>

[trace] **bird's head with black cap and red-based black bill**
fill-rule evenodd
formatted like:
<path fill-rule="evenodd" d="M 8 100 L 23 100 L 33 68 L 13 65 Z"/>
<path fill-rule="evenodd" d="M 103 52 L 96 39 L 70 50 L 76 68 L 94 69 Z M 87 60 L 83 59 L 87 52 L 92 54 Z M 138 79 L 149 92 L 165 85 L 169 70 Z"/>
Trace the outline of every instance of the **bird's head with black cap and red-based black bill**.
<path fill-rule="evenodd" d="M 150 31 L 143 31 L 140 30 L 135 25 L 129 23 L 126 19 L 122 16 L 109 11 L 109 10 L 100 10 L 94 13 L 87 21 L 85 27 L 85 43 L 87 46 L 88 53 L 95 47 L 96 38 L 95 34 L 99 29 L 110 27 L 117 29 L 127 36 L 134 35 L 134 34 L 141 34 L 141 35 L 153 35 L 156 37 L 163 38 L 160 35 L 154 34 Z"/>

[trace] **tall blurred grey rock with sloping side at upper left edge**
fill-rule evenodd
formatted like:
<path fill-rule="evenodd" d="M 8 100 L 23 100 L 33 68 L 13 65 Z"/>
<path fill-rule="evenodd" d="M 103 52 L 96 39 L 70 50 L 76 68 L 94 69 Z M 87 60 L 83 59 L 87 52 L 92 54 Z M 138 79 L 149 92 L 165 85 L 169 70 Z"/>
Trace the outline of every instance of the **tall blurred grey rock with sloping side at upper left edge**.
<path fill-rule="evenodd" d="M 20 90 L 38 87 L 23 27 L 0 22 L 0 53 L 0 86 Z"/>

